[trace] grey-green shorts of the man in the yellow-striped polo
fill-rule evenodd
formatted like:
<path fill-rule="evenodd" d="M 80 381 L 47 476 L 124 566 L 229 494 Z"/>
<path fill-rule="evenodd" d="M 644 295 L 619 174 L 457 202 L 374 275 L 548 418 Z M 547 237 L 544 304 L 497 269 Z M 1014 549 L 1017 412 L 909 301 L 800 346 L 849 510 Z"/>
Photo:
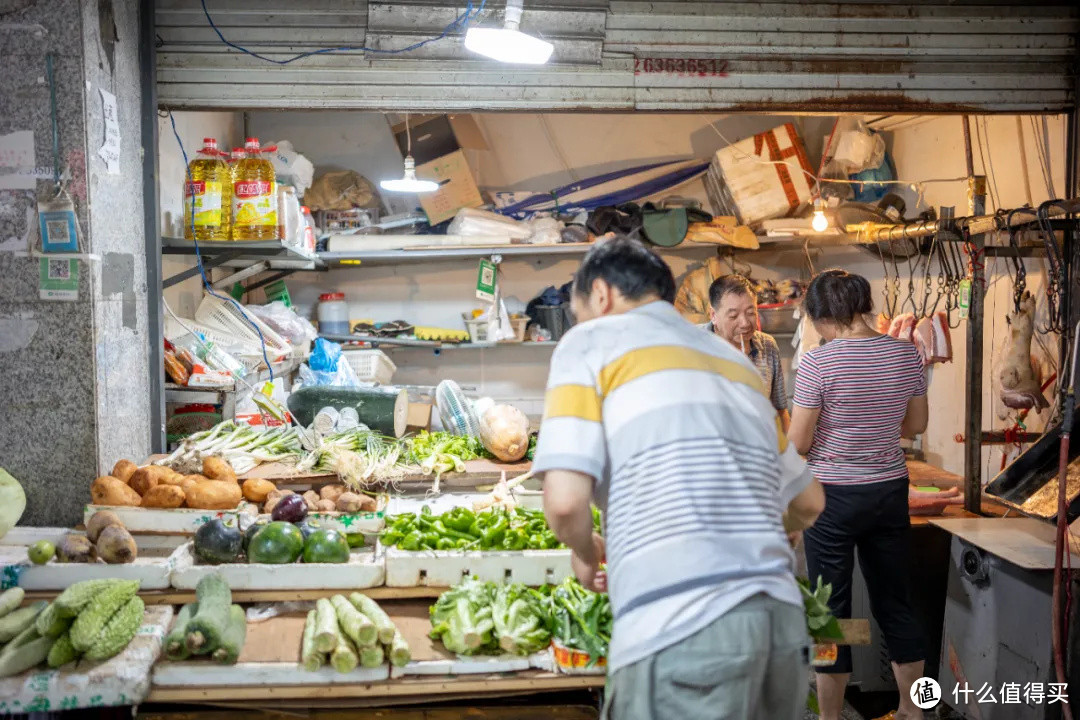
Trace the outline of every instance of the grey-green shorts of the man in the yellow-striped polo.
<path fill-rule="evenodd" d="M 605 720 L 800 720 L 810 638 L 802 608 L 755 595 L 608 677 Z"/>

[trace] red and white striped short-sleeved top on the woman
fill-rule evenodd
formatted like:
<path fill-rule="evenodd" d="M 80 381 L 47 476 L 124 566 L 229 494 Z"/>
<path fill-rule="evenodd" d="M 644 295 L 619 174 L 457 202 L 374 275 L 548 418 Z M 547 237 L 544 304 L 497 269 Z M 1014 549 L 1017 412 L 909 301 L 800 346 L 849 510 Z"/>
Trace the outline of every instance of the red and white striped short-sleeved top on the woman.
<path fill-rule="evenodd" d="M 907 476 L 900 429 L 907 402 L 927 394 L 910 342 L 887 335 L 833 340 L 799 361 L 795 405 L 821 408 L 807 463 L 833 485 Z"/>

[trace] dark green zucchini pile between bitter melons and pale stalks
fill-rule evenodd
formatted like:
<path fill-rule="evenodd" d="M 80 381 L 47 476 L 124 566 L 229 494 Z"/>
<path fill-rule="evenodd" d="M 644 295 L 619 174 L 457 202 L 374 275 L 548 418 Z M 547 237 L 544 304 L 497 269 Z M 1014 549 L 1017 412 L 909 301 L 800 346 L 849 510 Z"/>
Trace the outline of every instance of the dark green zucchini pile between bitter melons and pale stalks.
<path fill-rule="evenodd" d="M 206 575 L 195 586 L 195 602 L 180 608 L 165 636 L 165 656 L 181 661 L 210 655 L 221 665 L 234 665 L 247 639 L 244 609 L 232 604 L 232 590 L 219 574 Z"/>

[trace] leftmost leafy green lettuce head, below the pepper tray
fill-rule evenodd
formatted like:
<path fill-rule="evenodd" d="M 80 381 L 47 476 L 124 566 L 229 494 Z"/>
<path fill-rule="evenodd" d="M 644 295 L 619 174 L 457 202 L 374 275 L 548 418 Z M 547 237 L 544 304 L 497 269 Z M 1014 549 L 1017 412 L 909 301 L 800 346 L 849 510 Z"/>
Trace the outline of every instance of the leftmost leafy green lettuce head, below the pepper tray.
<path fill-rule="evenodd" d="M 495 585 L 475 578 L 451 587 L 431 606 L 431 637 L 461 655 L 494 651 L 494 600 Z"/>

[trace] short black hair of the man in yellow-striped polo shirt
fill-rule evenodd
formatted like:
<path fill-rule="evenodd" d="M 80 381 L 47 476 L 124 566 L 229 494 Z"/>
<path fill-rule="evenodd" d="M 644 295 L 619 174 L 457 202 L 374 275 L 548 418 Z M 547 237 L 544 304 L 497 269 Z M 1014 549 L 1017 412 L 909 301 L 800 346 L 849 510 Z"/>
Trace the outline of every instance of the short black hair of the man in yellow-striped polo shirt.
<path fill-rule="evenodd" d="M 573 273 L 573 291 L 589 297 L 593 281 L 603 280 L 627 300 L 656 295 L 675 302 L 675 276 L 659 255 L 640 241 L 616 235 L 597 241 Z"/>

